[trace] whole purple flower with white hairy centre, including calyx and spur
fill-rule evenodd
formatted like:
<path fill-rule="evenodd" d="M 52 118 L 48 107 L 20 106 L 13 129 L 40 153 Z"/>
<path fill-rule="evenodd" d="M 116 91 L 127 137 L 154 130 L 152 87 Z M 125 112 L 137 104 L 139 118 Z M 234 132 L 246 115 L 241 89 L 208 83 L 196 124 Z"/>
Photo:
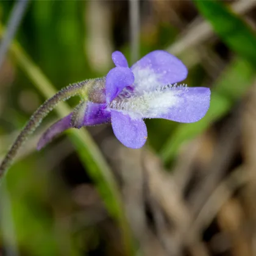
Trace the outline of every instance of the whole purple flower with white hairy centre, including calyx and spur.
<path fill-rule="evenodd" d="M 153 51 L 129 68 L 121 52 L 113 52 L 116 67 L 74 112 L 50 127 L 38 149 L 71 127 L 110 123 L 121 143 L 141 148 L 148 137 L 144 118 L 164 118 L 193 123 L 204 117 L 210 105 L 210 89 L 176 85 L 187 77 L 183 63 L 165 51 Z"/>

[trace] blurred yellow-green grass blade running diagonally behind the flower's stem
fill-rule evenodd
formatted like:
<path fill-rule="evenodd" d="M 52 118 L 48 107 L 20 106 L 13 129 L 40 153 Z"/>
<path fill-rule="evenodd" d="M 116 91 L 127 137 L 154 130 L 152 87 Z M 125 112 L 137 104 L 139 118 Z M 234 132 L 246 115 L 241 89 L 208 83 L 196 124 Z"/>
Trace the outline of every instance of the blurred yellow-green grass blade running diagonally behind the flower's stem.
<path fill-rule="evenodd" d="M 4 29 L 0 26 L 0 36 L 4 34 Z M 30 60 L 29 56 L 23 51 L 18 43 L 13 43 L 10 51 L 16 61 L 33 82 L 35 87 L 43 94 L 44 98 L 50 98 L 56 93 L 54 86 L 47 77 L 41 72 L 40 68 Z M 61 103 L 56 108 L 59 116 L 63 117 L 71 112 L 67 104 Z M 121 232 L 123 232 L 124 247 L 127 249 L 127 255 L 133 255 L 133 241 L 130 236 L 130 229 L 123 209 L 123 203 L 119 195 L 112 171 L 107 162 L 94 143 L 90 134 L 85 130 L 71 129 L 68 131 L 71 141 L 77 149 L 81 162 L 94 180 L 102 199 L 108 209 L 108 212 L 118 221 Z"/>

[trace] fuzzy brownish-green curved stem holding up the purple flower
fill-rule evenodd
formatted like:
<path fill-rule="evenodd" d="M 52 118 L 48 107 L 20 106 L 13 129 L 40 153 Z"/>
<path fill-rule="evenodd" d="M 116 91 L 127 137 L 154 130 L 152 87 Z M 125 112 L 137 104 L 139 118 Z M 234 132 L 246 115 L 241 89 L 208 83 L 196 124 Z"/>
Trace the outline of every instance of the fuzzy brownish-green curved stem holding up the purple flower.
<path fill-rule="evenodd" d="M 21 146 L 23 146 L 26 139 L 35 131 L 35 129 L 37 129 L 43 118 L 45 118 L 46 115 L 51 112 L 52 108 L 54 108 L 61 101 L 66 101 L 72 96 L 81 94 L 83 91 L 82 89 L 88 84 L 89 81 L 90 80 L 84 80 L 82 82 L 78 82 L 63 88 L 54 96 L 52 96 L 52 98 L 48 99 L 39 108 L 37 108 L 34 115 L 30 117 L 26 126 L 18 135 L 12 144 L 12 147 L 9 149 L 4 159 L 2 160 L 0 166 L 0 178 L 4 175 L 4 172 L 7 170 L 7 168 L 9 168 L 10 163 L 12 162 L 13 158 L 15 158 L 18 150 L 21 148 Z"/>

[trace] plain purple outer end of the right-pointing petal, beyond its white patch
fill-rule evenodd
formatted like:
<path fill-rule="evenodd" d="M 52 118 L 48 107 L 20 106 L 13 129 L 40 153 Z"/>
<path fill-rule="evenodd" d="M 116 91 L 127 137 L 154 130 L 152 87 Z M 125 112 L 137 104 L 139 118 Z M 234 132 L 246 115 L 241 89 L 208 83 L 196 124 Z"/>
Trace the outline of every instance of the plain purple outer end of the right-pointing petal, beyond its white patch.
<path fill-rule="evenodd" d="M 157 118 L 165 118 L 180 123 L 193 123 L 205 116 L 210 107 L 209 88 L 188 87 L 175 95 L 176 103 Z"/>

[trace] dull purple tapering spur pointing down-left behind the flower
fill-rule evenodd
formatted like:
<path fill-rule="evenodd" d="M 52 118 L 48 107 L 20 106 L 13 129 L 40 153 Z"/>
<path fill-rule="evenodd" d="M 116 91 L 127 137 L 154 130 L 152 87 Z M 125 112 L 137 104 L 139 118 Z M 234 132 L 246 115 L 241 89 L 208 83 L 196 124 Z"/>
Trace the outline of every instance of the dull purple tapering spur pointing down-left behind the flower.
<path fill-rule="evenodd" d="M 64 132 L 64 130 L 67 130 L 72 127 L 71 125 L 71 117 L 73 113 L 70 113 L 68 116 L 65 116 L 65 118 L 60 119 L 56 123 L 52 124 L 51 127 L 49 127 L 46 132 L 43 133 L 40 140 L 37 144 L 37 150 L 40 150 L 43 148 L 46 144 L 48 144 L 54 137 L 56 137 L 58 134 Z"/>

